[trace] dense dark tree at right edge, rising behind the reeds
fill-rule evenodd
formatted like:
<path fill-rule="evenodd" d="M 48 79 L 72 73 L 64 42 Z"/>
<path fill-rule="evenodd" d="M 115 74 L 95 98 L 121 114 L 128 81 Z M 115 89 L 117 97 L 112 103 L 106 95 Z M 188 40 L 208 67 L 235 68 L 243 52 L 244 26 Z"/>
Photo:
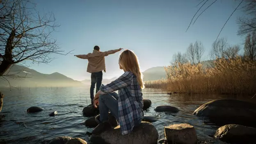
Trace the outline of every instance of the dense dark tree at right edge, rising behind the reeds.
<path fill-rule="evenodd" d="M 244 55 L 247 59 L 256 60 L 256 32 L 247 34 L 244 50 Z"/>

